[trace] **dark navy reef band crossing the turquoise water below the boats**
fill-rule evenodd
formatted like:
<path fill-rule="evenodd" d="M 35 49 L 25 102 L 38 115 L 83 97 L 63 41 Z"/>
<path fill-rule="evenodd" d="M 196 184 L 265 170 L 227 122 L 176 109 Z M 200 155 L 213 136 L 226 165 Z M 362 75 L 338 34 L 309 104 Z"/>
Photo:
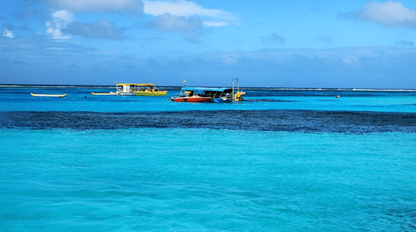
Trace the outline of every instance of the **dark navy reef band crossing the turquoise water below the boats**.
<path fill-rule="evenodd" d="M 193 128 L 303 133 L 416 133 L 416 113 L 324 110 L 193 110 L 182 112 L 2 112 L 0 128 L 111 130 Z"/>

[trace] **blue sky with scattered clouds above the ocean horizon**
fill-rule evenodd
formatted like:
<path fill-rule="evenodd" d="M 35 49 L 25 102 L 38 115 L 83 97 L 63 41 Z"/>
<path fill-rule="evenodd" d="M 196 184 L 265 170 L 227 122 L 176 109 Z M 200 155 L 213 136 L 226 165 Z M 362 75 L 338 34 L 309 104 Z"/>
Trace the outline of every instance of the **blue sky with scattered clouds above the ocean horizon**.
<path fill-rule="evenodd" d="M 416 89 L 416 1 L 0 0 L 0 83 Z"/>

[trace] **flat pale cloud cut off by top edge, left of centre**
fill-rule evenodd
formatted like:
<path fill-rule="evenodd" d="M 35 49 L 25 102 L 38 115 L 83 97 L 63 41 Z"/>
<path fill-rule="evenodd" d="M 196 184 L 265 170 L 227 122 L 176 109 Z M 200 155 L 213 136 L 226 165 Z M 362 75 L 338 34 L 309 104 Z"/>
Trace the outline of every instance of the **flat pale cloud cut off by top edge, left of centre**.
<path fill-rule="evenodd" d="M 55 8 L 73 12 L 141 13 L 143 11 L 141 0 L 54 0 L 49 3 Z"/>

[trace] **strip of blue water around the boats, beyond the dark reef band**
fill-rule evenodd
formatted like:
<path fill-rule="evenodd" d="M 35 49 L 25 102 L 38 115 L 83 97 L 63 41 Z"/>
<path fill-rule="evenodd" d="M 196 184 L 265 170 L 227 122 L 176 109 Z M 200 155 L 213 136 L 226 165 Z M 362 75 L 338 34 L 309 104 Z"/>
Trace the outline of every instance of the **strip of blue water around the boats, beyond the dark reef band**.
<path fill-rule="evenodd" d="M 345 91 L 345 90 L 245 90 L 248 101 L 234 104 L 172 103 L 170 99 L 180 88 L 168 89 L 166 97 L 103 97 L 91 92 L 113 89 L 94 88 L 0 88 L 0 111 L 92 111 L 141 112 L 184 110 L 351 110 L 416 113 L 416 91 Z M 31 96 L 68 94 L 63 99 Z M 336 99 L 334 96 L 340 95 Z M 87 97 L 87 98 L 85 98 Z"/>

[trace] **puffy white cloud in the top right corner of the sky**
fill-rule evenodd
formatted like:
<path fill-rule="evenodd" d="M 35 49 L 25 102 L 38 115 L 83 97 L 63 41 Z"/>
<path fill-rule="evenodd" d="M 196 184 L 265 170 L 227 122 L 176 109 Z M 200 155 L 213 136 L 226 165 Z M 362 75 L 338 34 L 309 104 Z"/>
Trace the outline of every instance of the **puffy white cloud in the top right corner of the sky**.
<path fill-rule="evenodd" d="M 406 8 L 397 1 L 367 3 L 355 17 L 388 27 L 416 27 L 416 10 Z"/>

